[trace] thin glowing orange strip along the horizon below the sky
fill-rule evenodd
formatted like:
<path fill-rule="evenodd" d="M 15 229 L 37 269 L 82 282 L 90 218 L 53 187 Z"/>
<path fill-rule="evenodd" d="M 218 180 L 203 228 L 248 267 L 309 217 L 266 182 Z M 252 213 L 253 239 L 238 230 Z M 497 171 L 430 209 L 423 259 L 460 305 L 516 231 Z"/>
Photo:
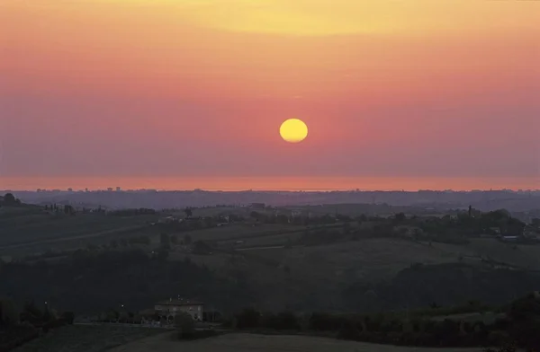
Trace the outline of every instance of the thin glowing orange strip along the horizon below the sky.
<path fill-rule="evenodd" d="M 2 177 L 0 189 L 13 191 L 159 189 L 166 191 L 418 191 L 418 190 L 535 190 L 538 177 L 411 177 L 411 176 L 109 176 L 109 177 Z"/>

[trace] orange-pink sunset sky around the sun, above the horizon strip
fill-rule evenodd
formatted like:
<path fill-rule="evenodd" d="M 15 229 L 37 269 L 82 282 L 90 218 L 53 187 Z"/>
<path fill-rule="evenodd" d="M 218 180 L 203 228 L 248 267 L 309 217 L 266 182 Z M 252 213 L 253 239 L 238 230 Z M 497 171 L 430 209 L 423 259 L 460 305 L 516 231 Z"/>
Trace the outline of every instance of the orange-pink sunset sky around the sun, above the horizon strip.
<path fill-rule="evenodd" d="M 540 188 L 538 16 L 517 0 L 0 0 L 0 180 Z M 279 136 L 293 118 L 302 143 Z"/>

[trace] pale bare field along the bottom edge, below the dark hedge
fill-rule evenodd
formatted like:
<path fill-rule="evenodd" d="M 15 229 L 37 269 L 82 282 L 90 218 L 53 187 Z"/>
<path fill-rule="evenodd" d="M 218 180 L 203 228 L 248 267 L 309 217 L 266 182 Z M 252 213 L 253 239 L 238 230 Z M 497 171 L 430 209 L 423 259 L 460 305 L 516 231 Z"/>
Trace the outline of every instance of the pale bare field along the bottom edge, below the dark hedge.
<path fill-rule="evenodd" d="M 479 352 L 481 348 L 402 348 L 303 336 L 229 334 L 197 341 L 178 341 L 170 334 L 159 335 L 112 348 L 111 352 Z"/>

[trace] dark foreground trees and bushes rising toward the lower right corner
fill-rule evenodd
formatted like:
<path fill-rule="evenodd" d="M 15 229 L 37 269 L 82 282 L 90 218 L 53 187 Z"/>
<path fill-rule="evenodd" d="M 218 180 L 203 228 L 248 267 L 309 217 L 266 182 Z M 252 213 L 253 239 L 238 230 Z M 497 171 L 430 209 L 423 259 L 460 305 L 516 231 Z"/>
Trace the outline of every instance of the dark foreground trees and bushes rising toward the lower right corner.
<path fill-rule="evenodd" d="M 330 314 L 315 312 L 257 312 L 249 308 L 225 325 L 237 330 L 272 333 L 316 334 L 378 344 L 417 347 L 518 347 L 540 350 L 540 295 L 527 295 L 511 304 L 492 308 L 497 319 L 466 321 L 452 316 L 482 312 L 490 307 L 471 303 L 451 309 L 432 307 L 412 312 L 379 314 Z M 448 314 L 448 315 L 446 315 Z M 435 319 L 436 316 L 441 319 Z M 446 317 L 445 317 L 446 315 Z M 505 350 L 505 349 L 503 349 Z M 511 350 L 511 348 L 507 349 Z"/>

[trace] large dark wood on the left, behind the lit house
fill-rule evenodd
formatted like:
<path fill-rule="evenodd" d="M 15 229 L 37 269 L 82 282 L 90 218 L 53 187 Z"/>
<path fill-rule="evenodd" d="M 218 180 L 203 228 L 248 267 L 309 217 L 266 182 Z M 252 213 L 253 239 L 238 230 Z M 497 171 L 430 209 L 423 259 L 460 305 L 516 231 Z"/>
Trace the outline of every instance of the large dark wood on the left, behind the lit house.
<path fill-rule="evenodd" d="M 0 292 L 17 304 L 35 299 L 88 314 L 121 305 L 138 312 L 176 295 L 239 307 L 251 295 L 242 280 L 217 277 L 189 260 L 170 261 L 160 252 L 148 255 L 140 250 L 76 251 L 54 262 L 9 263 L 0 268 Z"/>

